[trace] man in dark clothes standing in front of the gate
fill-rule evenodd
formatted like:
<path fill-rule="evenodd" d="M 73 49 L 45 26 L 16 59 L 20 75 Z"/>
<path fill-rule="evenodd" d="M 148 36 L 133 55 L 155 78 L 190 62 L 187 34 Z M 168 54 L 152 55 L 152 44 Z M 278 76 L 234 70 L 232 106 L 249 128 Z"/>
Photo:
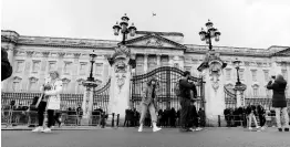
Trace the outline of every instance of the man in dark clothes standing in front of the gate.
<path fill-rule="evenodd" d="M 184 77 L 179 81 L 179 90 L 180 90 L 180 132 L 191 132 L 189 129 L 188 122 L 190 120 L 190 99 L 193 91 L 194 97 L 197 97 L 196 86 L 194 83 L 189 83 L 188 80 L 190 77 L 190 72 L 185 71 Z"/>

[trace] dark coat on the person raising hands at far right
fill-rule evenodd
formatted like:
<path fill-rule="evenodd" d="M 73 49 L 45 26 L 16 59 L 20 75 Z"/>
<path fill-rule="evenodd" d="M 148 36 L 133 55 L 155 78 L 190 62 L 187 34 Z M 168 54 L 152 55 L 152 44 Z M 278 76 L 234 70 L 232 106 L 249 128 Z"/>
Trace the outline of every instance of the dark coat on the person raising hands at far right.
<path fill-rule="evenodd" d="M 287 107 L 287 101 L 284 96 L 287 82 L 286 81 L 270 81 L 267 85 L 268 90 L 273 90 L 272 107 Z"/>

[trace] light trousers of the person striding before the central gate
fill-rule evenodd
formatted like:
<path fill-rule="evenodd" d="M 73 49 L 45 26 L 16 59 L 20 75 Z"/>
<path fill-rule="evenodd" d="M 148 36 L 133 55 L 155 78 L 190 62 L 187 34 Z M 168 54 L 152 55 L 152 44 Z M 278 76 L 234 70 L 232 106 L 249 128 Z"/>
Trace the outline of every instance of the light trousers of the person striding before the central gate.
<path fill-rule="evenodd" d="M 142 113 L 141 113 L 139 124 L 142 124 L 142 125 L 144 124 L 144 119 L 145 119 L 145 116 L 146 116 L 146 113 L 147 113 L 148 109 L 149 109 L 149 113 L 151 113 L 152 123 L 157 123 L 155 106 L 154 106 L 153 103 L 149 103 L 148 105 L 142 104 Z"/>

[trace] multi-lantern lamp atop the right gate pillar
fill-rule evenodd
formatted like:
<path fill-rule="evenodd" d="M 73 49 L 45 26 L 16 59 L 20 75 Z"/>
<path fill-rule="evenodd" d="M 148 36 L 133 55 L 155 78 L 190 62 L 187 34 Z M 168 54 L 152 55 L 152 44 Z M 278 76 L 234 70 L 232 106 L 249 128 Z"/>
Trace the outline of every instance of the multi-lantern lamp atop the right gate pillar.
<path fill-rule="evenodd" d="M 209 44 L 209 51 L 211 51 L 213 50 L 211 39 L 215 38 L 215 41 L 218 42 L 219 35 L 221 33 L 216 28 L 214 28 L 214 23 L 210 22 L 210 20 L 208 20 L 206 27 L 207 27 L 207 31 L 205 31 L 204 28 L 201 28 L 199 35 L 201 41 L 206 41 L 206 43 Z"/>

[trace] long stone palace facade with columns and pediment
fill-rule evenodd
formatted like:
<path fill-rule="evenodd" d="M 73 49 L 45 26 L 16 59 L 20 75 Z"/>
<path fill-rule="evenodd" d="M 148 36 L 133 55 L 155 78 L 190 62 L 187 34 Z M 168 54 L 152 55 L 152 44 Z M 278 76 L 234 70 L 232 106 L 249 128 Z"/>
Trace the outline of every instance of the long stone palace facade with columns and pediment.
<path fill-rule="evenodd" d="M 183 44 L 184 35 L 176 32 L 138 31 L 134 38 L 127 36 L 126 45 L 136 60 L 134 74 L 144 74 L 159 66 L 175 66 L 200 76 L 197 67 L 204 60 L 207 45 Z M 2 82 L 2 92 L 39 92 L 39 87 L 51 70 L 58 70 L 64 83 L 63 93 L 82 94 L 82 81 L 90 74 L 89 54 L 97 53 L 93 76 L 105 84 L 111 74 L 107 62 L 118 41 L 28 36 L 15 31 L 1 31 L 1 48 L 8 51 L 13 74 Z M 221 60 L 228 65 L 222 76 L 225 86 L 232 88 L 237 81 L 237 71 L 232 61 L 242 61 L 239 72 L 241 82 L 247 85 L 246 97 L 270 97 L 265 87 L 270 76 L 277 72 L 290 83 L 290 48 L 270 46 L 269 49 L 247 49 L 214 46 Z M 102 87 L 101 86 L 99 87 Z M 289 84 L 288 84 L 289 85 Z M 289 86 L 287 96 L 290 96 Z"/>

